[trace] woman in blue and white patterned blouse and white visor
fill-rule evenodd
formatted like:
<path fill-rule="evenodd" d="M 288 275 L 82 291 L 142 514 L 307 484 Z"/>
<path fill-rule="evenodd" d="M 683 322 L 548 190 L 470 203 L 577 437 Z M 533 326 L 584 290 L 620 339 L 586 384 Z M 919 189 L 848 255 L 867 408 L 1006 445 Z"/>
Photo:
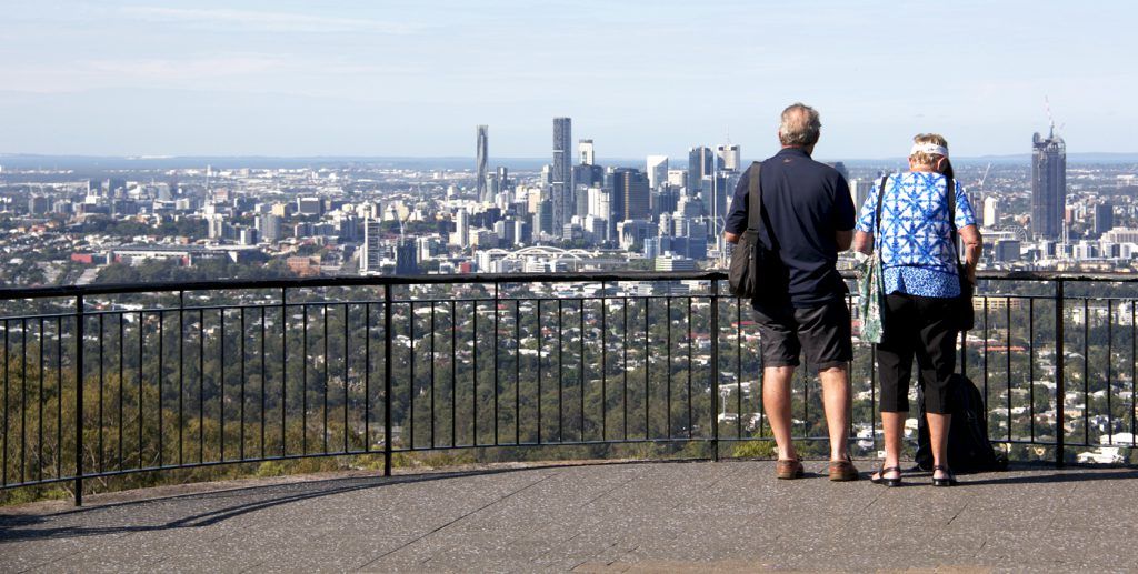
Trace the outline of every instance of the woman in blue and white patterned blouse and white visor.
<path fill-rule="evenodd" d="M 949 375 L 956 368 L 958 334 L 953 325 L 951 302 L 960 294 L 953 224 L 964 241 L 967 280 L 972 283 L 982 242 L 972 205 L 958 182 L 953 185 L 956 206 L 950 219 L 948 142 L 939 134 L 918 134 L 913 141 L 909 170 L 885 176 L 884 185 L 879 180 L 861 206 L 853 238 L 853 249 L 863 253 L 872 253 L 874 243 L 881 249 L 885 293 L 884 331 L 877 344 L 885 460 L 871 481 L 888 486 L 901 483 L 898 459 L 916 356 L 929 421 L 933 484 L 951 486 L 956 477 L 946 456 L 951 424 L 947 391 Z"/>

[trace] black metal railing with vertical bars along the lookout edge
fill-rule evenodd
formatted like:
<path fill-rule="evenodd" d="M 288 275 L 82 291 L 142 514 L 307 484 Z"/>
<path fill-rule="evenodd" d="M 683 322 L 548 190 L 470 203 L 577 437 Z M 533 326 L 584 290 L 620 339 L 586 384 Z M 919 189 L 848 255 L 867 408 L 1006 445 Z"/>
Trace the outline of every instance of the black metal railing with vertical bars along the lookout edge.
<path fill-rule="evenodd" d="M 1058 465 L 1133 447 L 1138 277 L 982 278 L 959 368 L 992 440 Z M 84 480 L 310 457 L 381 455 L 386 474 L 394 454 L 472 448 L 717 458 L 770 440 L 757 332 L 726 286 L 627 272 L 0 290 L 0 486 L 69 483 L 80 504 Z M 876 372 L 855 342 L 864 456 Z M 794 434 L 820 446 L 815 384 L 799 369 Z"/>

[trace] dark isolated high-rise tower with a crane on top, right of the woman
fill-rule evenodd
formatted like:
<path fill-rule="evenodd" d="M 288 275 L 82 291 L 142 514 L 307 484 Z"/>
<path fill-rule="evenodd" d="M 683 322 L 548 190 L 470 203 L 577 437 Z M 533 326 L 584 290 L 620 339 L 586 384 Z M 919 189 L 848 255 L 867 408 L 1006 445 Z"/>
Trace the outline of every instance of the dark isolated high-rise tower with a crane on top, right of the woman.
<path fill-rule="evenodd" d="M 1066 143 L 1055 135 L 1031 138 L 1031 234 L 1059 239 L 1066 205 Z"/>

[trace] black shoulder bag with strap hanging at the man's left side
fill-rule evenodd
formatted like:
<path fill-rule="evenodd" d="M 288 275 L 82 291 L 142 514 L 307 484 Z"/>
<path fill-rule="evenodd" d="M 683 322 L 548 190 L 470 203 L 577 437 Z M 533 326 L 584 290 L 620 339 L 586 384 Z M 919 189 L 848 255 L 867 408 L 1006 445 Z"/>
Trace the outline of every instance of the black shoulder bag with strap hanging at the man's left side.
<path fill-rule="evenodd" d="M 784 300 L 789 294 L 786 269 L 778 257 L 778 243 L 762 209 L 762 190 L 759 185 L 761 170 L 762 163 L 751 164 L 747 190 L 747 231 L 740 236 L 731 256 L 727 280 L 731 283 L 731 294 L 735 297 L 752 301 Z M 766 224 L 770 247 L 764 244 L 759 236 L 760 224 Z"/>

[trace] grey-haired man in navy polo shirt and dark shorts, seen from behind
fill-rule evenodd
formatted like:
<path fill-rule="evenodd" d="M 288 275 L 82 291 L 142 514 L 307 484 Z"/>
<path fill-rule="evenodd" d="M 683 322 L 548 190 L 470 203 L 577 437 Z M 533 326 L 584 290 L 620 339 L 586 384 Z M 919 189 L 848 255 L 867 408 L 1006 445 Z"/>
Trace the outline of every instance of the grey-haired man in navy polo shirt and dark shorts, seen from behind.
<path fill-rule="evenodd" d="M 762 404 L 778 444 L 777 476 L 802 476 L 802 461 L 791 442 L 791 380 L 805 350 L 807 365 L 822 380 L 830 430 L 830 480 L 856 480 L 847 448 L 850 388 L 847 365 L 852 358 L 846 283 L 838 273 L 838 252 L 853 239 L 855 208 L 849 185 L 836 169 L 810 158 L 822 123 L 809 106 L 783 110 L 778 125 L 782 150 L 762 163 L 760 192 L 766 214 L 760 238 L 777 243 L 786 267 L 787 297 L 752 300 L 762 351 Z M 749 169 L 735 188 L 725 239 L 737 243 L 747 231 Z M 770 236 L 773 235 L 773 241 Z"/>

